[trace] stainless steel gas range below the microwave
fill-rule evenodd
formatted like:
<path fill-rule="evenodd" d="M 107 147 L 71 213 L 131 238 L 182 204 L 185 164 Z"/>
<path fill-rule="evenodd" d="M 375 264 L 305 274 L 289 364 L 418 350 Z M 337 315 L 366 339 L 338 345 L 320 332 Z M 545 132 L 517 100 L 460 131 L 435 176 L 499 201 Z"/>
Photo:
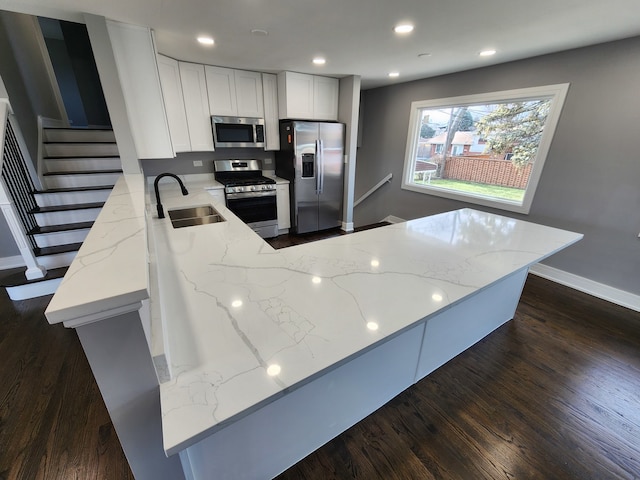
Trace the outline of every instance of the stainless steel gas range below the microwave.
<path fill-rule="evenodd" d="M 276 182 L 262 175 L 260 160 L 214 160 L 227 208 L 263 238 L 278 235 Z"/>

